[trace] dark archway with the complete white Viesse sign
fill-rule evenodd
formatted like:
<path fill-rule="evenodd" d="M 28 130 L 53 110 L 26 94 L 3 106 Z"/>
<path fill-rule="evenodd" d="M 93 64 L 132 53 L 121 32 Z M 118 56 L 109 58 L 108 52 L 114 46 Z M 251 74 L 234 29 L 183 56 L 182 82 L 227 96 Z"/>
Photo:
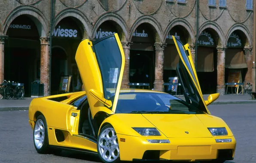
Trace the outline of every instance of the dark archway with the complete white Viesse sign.
<path fill-rule="evenodd" d="M 69 92 L 82 90 L 82 81 L 78 86 L 76 85 L 77 72 L 74 72 L 72 67 L 76 66 L 76 50 L 86 32 L 82 22 L 73 16 L 61 19 L 52 30 L 52 94 L 57 94 L 59 91 L 61 75 L 72 75 Z"/>

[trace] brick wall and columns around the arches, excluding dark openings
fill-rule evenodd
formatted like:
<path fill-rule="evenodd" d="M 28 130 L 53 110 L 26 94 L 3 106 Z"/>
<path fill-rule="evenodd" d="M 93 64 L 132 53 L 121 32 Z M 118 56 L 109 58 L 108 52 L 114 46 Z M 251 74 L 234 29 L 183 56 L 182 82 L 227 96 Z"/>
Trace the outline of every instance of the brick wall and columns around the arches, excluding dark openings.
<path fill-rule="evenodd" d="M 23 3 L 24 2 L 24 3 Z M 123 88 L 129 83 L 129 55 L 131 39 L 134 31 L 141 24 L 153 28 L 155 39 L 155 82 L 154 88 L 163 91 L 163 63 L 166 36 L 173 27 L 180 25 L 188 33 L 187 42 L 191 45 L 192 57 L 195 60 L 196 36 L 196 0 L 186 0 L 186 3 L 169 2 L 165 0 L 76 0 L 54 1 L 53 25 L 57 25 L 63 18 L 72 17 L 80 24 L 83 31 L 82 39 L 92 39 L 98 27 L 105 21 L 114 22 L 118 30 L 122 31 L 121 41 L 125 52 L 125 72 Z M 244 44 L 245 58 L 248 66 L 245 82 L 252 83 L 252 45 L 253 45 L 253 11 L 246 9 L 246 0 L 227 0 L 225 8 L 208 6 L 207 0 L 199 0 L 199 34 L 206 29 L 213 31 L 216 36 L 217 52 L 217 92 L 224 93 L 225 82 L 225 48 L 229 36 L 234 31 L 241 33 Z M 9 25 L 19 15 L 30 15 L 37 25 L 41 38 L 49 38 L 50 31 L 49 0 L 16 0 L 0 2 L 0 80 L 4 78 L 4 40 Z M 237 16 L 239 15 L 239 16 Z M 158 46 L 158 44 L 161 45 Z M 75 51 L 75 50 L 73 50 Z M 71 52 L 69 52 L 71 53 Z M 44 83 L 44 95 L 50 94 L 49 80 L 49 39 L 41 39 L 41 69 L 40 80 Z M 70 58 L 71 60 L 71 58 Z M 69 61 L 70 62 L 70 61 Z"/>

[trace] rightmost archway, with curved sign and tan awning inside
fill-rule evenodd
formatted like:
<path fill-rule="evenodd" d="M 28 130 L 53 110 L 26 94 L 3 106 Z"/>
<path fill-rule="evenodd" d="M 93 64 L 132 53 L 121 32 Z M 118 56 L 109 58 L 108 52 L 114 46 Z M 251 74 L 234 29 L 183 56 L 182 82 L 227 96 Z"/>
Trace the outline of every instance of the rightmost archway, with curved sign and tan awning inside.
<path fill-rule="evenodd" d="M 236 29 L 236 30 L 234 30 Z M 226 39 L 225 55 L 225 83 L 250 83 L 252 84 L 252 53 L 250 52 L 251 40 L 246 30 L 241 27 L 233 28 Z M 246 33 L 244 33 L 246 32 Z M 237 75 L 235 75 L 237 74 Z M 233 76 L 237 78 L 233 78 Z M 235 85 L 233 85 L 235 86 Z M 231 88 L 235 92 L 235 88 Z M 240 92 L 240 91 L 239 91 Z"/>

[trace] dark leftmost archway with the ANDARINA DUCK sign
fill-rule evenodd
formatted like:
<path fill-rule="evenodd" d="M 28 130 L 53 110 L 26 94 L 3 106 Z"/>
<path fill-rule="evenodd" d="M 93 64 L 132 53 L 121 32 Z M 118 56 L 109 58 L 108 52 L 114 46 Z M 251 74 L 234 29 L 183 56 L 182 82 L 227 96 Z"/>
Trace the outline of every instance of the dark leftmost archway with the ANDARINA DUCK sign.
<path fill-rule="evenodd" d="M 31 83 L 40 80 L 40 36 L 45 36 L 45 29 L 32 15 L 21 14 L 5 23 L 9 38 L 5 41 L 4 78 L 24 83 L 25 97 L 30 97 Z"/>

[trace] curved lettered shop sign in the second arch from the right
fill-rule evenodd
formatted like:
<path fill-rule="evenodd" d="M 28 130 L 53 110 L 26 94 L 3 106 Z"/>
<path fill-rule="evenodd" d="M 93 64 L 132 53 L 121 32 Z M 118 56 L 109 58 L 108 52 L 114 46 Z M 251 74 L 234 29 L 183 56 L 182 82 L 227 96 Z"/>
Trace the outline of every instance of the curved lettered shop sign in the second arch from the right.
<path fill-rule="evenodd" d="M 215 46 L 212 35 L 210 34 L 210 32 L 207 32 L 206 30 L 204 30 L 200 34 L 197 43 L 198 43 L 198 46 L 210 46 L 210 47 Z"/>

